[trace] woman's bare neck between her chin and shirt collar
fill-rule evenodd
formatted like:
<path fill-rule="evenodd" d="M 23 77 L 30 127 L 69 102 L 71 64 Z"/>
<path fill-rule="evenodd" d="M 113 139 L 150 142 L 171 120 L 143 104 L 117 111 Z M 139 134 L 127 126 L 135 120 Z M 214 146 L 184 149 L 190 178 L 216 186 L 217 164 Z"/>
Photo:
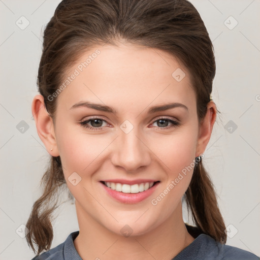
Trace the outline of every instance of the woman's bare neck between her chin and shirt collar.
<path fill-rule="evenodd" d="M 170 260 L 194 240 L 183 222 L 181 202 L 174 216 L 152 231 L 128 237 L 106 229 L 75 203 L 77 216 L 84 215 L 84 218 L 78 217 L 80 233 L 74 240 L 75 248 L 83 260 Z"/>

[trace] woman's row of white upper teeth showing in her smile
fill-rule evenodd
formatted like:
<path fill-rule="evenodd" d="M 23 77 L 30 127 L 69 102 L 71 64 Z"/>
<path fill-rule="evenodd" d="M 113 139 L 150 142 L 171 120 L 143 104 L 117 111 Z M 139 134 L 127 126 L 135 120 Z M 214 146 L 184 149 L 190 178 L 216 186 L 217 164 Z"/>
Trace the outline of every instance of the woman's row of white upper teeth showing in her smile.
<path fill-rule="evenodd" d="M 124 193 L 138 193 L 149 189 L 154 182 L 143 182 L 134 185 L 114 183 L 114 182 L 106 182 L 105 185 L 113 190 L 121 191 Z"/>

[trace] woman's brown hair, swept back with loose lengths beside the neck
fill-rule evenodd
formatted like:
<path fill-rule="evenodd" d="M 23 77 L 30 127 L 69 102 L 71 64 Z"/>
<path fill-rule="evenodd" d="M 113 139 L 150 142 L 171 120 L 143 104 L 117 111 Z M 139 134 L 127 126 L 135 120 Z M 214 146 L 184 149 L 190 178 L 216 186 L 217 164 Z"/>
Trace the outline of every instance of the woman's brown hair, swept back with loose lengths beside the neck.
<path fill-rule="evenodd" d="M 94 45 L 116 46 L 120 41 L 157 48 L 176 57 L 190 72 L 201 122 L 215 77 L 214 48 L 200 14 L 186 0 L 63 0 L 44 30 L 37 80 L 52 118 L 57 99 L 48 97 L 58 89 L 72 64 Z M 26 223 L 27 243 L 34 252 L 33 243 L 38 246 L 37 254 L 50 249 L 51 215 L 58 207 L 53 198 L 66 186 L 59 156 L 51 157 L 42 183 L 43 195 L 34 203 Z M 225 243 L 225 224 L 202 161 L 194 167 L 184 197 L 198 230 Z"/>

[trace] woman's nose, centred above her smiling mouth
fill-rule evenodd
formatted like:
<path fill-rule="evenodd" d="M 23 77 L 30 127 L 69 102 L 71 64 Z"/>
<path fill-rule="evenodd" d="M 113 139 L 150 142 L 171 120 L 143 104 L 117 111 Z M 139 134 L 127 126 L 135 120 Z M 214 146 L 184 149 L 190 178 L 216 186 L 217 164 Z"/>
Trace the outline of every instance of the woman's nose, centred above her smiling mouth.
<path fill-rule="evenodd" d="M 114 143 L 111 161 L 126 172 L 136 172 L 151 163 L 150 150 L 136 128 L 127 134 L 120 130 Z"/>

